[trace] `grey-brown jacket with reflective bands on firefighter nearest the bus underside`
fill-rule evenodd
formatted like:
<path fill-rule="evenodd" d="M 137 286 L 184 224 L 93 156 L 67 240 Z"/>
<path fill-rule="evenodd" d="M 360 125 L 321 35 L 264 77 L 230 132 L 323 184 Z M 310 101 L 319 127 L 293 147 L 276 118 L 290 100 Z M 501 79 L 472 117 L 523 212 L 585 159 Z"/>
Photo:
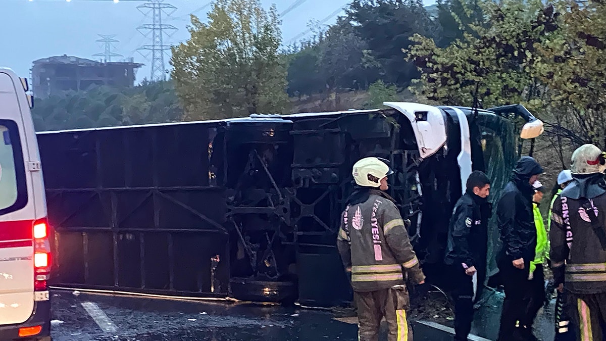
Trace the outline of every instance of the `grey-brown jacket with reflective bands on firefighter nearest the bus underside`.
<path fill-rule="evenodd" d="M 403 270 L 416 283 L 425 280 L 398 208 L 384 192 L 369 191 L 367 200 L 345 208 L 337 237 L 354 291 L 404 285 Z"/>

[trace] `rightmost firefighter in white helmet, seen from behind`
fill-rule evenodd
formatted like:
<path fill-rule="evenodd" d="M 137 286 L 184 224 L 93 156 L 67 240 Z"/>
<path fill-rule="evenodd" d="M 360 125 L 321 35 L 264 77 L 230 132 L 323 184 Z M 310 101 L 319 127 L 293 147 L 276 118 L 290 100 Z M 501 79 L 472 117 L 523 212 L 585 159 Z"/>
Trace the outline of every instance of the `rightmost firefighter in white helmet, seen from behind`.
<path fill-rule="evenodd" d="M 570 168 L 574 181 L 551 212 L 554 282 L 559 291 L 565 290 L 576 340 L 582 341 L 602 340 L 606 323 L 605 155 L 593 144 L 574 151 Z"/>

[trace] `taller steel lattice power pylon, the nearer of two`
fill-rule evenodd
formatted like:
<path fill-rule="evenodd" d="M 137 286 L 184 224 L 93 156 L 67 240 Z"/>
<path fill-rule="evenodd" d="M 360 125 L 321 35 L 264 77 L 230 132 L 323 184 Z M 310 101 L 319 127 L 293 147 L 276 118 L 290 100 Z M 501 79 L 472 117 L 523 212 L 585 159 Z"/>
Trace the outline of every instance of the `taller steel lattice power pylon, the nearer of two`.
<path fill-rule="evenodd" d="M 167 50 L 170 50 L 170 46 L 164 44 L 164 38 L 170 38 L 178 30 L 173 25 L 162 24 L 162 18 L 164 15 L 170 16 L 175 13 L 177 8 L 164 2 L 164 0 L 148 1 L 145 4 L 138 5 L 137 9 L 145 15 L 145 18 L 151 16 L 151 24 L 143 24 L 137 27 L 137 30 L 145 38 L 151 38 L 151 44 L 141 46 L 137 50 L 142 56 L 151 61 L 150 80 L 161 81 L 166 79 L 164 56 L 167 54 Z"/>

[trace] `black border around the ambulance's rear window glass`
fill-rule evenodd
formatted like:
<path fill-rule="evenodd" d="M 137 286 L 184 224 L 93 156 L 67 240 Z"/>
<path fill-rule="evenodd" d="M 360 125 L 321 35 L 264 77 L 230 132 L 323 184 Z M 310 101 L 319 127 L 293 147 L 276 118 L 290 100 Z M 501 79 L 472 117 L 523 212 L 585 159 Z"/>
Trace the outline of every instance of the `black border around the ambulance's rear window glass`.
<path fill-rule="evenodd" d="M 25 172 L 24 150 L 19 134 L 19 125 L 13 120 L 0 119 L 0 126 L 8 130 L 8 138 L 13 149 L 13 161 L 15 162 L 15 180 L 17 184 L 17 199 L 15 203 L 7 208 L 0 208 L 0 216 L 19 211 L 27 205 L 27 173 Z M 4 143 L 4 141 L 0 141 Z"/>

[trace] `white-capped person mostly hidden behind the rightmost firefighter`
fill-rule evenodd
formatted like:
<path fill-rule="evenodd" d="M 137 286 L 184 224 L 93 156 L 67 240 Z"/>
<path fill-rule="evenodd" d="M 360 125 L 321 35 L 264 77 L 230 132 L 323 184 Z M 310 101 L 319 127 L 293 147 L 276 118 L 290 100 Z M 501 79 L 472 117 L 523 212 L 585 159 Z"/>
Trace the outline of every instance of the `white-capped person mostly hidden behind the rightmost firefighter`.
<path fill-rule="evenodd" d="M 564 169 L 558 174 L 558 183 L 552 191 L 553 197 L 549 206 L 549 214 L 547 216 L 547 233 L 551 231 L 551 211 L 553 210 L 553 204 L 559 199 L 562 190 L 573 181 L 570 169 Z M 549 243 L 547 243 L 549 245 Z M 548 248 L 549 249 L 549 248 Z M 549 260 L 549 255 L 547 255 Z M 565 307 L 566 297 L 563 288 L 557 291 L 556 307 L 555 307 L 555 323 L 556 323 L 556 337 L 554 341 L 574 341 L 574 329 L 570 323 L 570 315 Z M 551 299 L 551 297 L 548 297 Z"/>

